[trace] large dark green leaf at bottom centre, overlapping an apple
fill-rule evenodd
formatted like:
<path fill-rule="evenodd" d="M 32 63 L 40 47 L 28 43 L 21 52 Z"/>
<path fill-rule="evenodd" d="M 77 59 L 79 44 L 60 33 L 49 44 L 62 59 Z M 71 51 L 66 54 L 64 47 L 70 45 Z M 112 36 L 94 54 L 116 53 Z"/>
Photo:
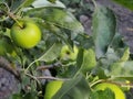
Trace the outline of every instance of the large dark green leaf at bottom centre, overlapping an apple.
<path fill-rule="evenodd" d="M 84 77 L 66 80 L 53 99 L 89 99 L 90 87 Z"/>

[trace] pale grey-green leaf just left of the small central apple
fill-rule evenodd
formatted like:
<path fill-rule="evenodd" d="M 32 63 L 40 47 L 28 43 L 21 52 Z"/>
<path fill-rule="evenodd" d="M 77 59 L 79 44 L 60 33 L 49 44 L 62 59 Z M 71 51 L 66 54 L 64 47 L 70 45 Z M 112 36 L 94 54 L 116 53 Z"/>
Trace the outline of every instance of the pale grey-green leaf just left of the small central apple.
<path fill-rule="evenodd" d="M 59 57 L 62 48 L 61 43 L 54 43 L 38 61 L 52 62 Z"/>

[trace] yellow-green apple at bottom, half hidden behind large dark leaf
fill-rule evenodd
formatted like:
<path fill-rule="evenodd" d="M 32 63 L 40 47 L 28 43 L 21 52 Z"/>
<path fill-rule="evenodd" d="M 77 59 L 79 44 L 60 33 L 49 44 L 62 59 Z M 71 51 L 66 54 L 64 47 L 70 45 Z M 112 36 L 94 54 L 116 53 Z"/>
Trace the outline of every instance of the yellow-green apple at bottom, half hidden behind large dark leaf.
<path fill-rule="evenodd" d="M 63 84 L 62 80 L 50 81 L 45 88 L 44 99 L 52 99 L 52 97 L 62 87 L 62 84 Z"/>

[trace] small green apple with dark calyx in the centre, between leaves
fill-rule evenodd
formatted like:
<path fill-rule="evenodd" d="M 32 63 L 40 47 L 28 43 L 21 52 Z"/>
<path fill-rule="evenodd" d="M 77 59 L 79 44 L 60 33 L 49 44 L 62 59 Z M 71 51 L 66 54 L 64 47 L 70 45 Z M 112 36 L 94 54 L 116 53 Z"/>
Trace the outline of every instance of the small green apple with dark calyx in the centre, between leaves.
<path fill-rule="evenodd" d="M 75 61 L 78 53 L 79 50 L 75 45 L 73 47 L 73 51 L 71 51 L 68 45 L 64 45 L 61 50 L 60 58 L 62 61 Z"/>

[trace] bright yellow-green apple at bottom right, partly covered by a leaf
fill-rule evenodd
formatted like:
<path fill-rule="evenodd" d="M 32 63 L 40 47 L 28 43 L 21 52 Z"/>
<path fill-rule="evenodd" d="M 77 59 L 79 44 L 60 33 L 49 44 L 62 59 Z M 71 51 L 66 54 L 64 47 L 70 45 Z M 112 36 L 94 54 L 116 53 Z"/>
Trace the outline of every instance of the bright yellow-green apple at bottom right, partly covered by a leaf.
<path fill-rule="evenodd" d="M 106 88 L 111 89 L 114 92 L 115 99 L 125 99 L 125 95 L 122 91 L 122 89 L 115 85 L 115 84 L 111 84 L 111 82 L 101 82 L 98 84 L 94 89 L 95 90 L 105 90 Z"/>

